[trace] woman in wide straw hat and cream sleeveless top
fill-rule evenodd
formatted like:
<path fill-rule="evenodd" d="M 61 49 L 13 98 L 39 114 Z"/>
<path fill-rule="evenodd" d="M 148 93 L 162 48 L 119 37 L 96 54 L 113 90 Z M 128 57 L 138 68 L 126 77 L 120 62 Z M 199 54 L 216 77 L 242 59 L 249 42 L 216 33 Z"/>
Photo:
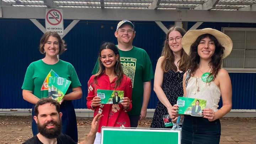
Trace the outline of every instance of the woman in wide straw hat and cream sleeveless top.
<path fill-rule="evenodd" d="M 220 68 L 222 59 L 232 50 L 232 41 L 224 33 L 212 28 L 188 31 L 182 46 L 189 55 L 188 71 L 183 76 L 184 96 L 206 100 L 203 117 L 185 115 L 181 144 L 217 144 L 220 141 L 220 120 L 231 110 L 231 81 L 226 70 Z M 220 95 L 223 106 L 217 108 Z M 172 114 L 178 116 L 178 106 Z"/>

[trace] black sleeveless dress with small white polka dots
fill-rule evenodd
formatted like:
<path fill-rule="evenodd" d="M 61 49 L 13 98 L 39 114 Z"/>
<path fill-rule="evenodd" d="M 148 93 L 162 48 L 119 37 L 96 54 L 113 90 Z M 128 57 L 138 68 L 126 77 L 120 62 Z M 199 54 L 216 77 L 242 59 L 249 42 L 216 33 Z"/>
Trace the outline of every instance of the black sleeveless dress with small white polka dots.
<path fill-rule="evenodd" d="M 175 72 L 173 70 L 164 73 L 162 90 L 172 106 L 177 103 L 178 96 L 183 96 L 183 75 L 184 72 Z M 163 116 L 166 114 L 168 114 L 167 108 L 158 100 L 151 128 L 172 128 L 164 126 Z"/>

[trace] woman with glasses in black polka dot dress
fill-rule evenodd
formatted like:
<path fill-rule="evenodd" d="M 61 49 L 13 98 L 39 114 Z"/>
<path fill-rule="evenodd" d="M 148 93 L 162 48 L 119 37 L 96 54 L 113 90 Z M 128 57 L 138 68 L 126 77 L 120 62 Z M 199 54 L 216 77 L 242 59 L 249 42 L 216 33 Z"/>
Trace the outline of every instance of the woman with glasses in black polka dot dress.
<path fill-rule="evenodd" d="M 177 103 L 178 96 L 183 95 L 182 79 L 187 54 L 182 49 L 181 39 L 185 33 L 183 28 L 172 26 L 166 34 L 162 55 L 155 70 L 154 91 L 159 101 L 151 128 L 165 128 L 163 116 L 167 114 L 172 117 L 172 122 L 177 121 L 177 118 L 171 115 L 171 107 Z"/>

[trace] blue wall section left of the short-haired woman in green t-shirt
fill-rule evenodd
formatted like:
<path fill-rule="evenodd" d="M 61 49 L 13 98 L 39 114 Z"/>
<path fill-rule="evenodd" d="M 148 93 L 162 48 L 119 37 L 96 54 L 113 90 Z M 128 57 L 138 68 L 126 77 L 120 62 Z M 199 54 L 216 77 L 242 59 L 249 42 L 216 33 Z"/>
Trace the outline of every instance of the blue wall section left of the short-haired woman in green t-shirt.
<path fill-rule="evenodd" d="M 30 20 L 0 19 L 0 108 L 31 108 L 21 86 L 27 66 L 40 58 L 42 32 Z"/>

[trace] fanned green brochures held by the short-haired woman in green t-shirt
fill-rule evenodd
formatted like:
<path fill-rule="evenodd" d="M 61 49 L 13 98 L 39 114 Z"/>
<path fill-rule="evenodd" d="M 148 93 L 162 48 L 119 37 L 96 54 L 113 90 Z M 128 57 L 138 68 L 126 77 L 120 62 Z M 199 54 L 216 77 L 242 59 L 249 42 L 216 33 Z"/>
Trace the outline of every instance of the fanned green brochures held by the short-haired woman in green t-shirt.
<path fill-rule="evenodd" d="M 58 102 L 62 100 L 71 84 L 70 80 L 57 76 L 49 76 L 48 97 Z"/>

